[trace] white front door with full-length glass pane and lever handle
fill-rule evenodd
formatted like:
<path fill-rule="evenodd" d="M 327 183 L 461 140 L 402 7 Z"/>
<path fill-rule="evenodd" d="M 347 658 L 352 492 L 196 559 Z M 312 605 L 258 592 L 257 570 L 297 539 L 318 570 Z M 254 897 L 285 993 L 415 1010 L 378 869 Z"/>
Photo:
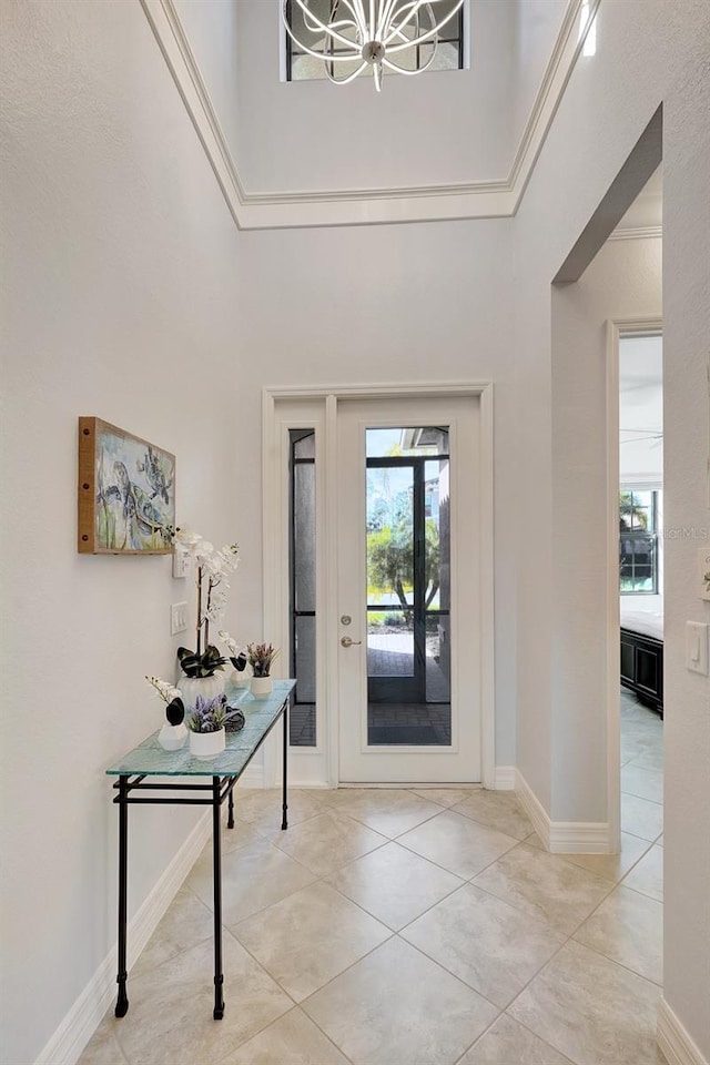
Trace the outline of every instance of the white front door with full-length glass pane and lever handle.
<path fill-rule="evenodd" d="M 478 406 L 337 414 L 339 779 L 480 779 Z"/>

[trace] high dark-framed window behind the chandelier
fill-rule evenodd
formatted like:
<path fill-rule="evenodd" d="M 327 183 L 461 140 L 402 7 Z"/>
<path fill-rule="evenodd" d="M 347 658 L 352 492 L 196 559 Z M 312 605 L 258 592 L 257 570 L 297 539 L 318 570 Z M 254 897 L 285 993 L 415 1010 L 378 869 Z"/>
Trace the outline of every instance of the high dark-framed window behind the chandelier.
<path fill-rule="evenodd" d="M 443 18 L 447 10 L 454 7 L 455 0 L 440 0 L 437 3 L 437 19 Z M 332 21 L 333 17 L 337 14 L 337 8 L 341 4 L 341 0 L 314 0 L 311 4 L 314 13 L 324 22 Z M 292 8 L 294 10 L 292 10 Z M 442 32 L 438 38 L 438 47 L 436 49 L 436 55 L 432 62 L 432 65 L 428 70 L 463 70 L 465 65 L 464 57 L 464 24 L 465 24 L 465 11 L 466 4 L 442 28 Z M 308 34 L 302 32 L 304 30 L 303 26 L 303 12 L 300 10 L 297 4 L 292 4 L 291 2 L 287 6 L 287 19 L 290 26 L 293 26 L 296 37 L 301 40 L 307 38 Z M 293 21 L 292 21 L 293 19 Z M 338 62 L 338 63 L 328 63 L 329 69 L 326 70 L 326 63 L 321 59 L 315 59 L 313 55 L 308 55 L 305 52 L 301 51 L 294 41 L 291 39 L 288 33 L 284 33 L 285 37 L 285 51 L 286 51 L 286 81 L 314 81 L 321 78 L 327 78 L 328 73 L 331 75 L 337 74 L 338 79 L 346 78 L 348 74 L 355 72 L 359 62 L 353 61 L 349 62 Z M 323 41 L 317 41 L 314 43 L 315 48 L 322 48 Z M 333 54 L 337 54 L 338 51 L 344 51 L 344 49 L 338 50 L 337 47 L 334 48 Z M 409 54 L 410 53 L 410 54 Z M 397 63 L 402 67 L 407 67 L 410 70 L 416 70 L 418 67 L 422 67 L 429 59 L 432 53 L 432 43 L 424 41 L 422 44 L 417 44 L 416 50 L 407 49 L 406 52 L 399 52 L 397 54 Z M 337 71 L 335 71 L 337 67 Z M 389 70 L 384 70 L 384 74 L 389 77 L 390 73 L 394 73 Z"/>

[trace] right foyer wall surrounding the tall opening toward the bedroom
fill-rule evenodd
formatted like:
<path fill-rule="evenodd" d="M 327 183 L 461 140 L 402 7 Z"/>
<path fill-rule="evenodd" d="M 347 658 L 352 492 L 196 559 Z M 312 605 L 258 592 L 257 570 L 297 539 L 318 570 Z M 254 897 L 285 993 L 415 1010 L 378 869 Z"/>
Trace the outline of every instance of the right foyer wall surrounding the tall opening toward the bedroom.
<path fill-rule="evenodd" d="M 708 8 L 694 0 L 681 8 L 605 0 L 597 18 L 597 53 L 580 59 L 572 73 L 516 222 L 519 506 L 529 518 L 526 551 L 536 560 L 518 567 L 518 631 L 525 633 L 518 643 L 518 765 L 548 811 L 554 797 L 560 820 L 574 816 L 578 789 L 587 784 L 560 767 L 567 751 L 551 750 L 556 630 L 546 604 L 556 564 L 551 500 L 561 486 L 554 480 L 550 429 L 550 283 L 661 101 L 665 450 L 666 481 L 674 486 L 667 491 L 666 525 L 708 527 Z M 586 406 L 586 418 L 601 423 L 599 379 Z M 595 464 L 592 490 L 598 476 Z M 666 544 L 665 997 L 710 1056 L 710 688 L 683 667 L 686 619 L 709 620 L 708 605 L 697 598 L 697 547 L 690 537 Z"/>

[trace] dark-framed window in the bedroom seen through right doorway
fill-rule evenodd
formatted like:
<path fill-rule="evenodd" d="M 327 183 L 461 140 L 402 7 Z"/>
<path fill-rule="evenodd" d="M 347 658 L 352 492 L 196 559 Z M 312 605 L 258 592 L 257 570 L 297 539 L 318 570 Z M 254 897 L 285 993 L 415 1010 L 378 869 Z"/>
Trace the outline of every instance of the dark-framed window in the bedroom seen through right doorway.
<path fill-rule="evenodd" d="M 660 491 L 627 488 L 619 494 L 619 590 L 658 595 Z"/>

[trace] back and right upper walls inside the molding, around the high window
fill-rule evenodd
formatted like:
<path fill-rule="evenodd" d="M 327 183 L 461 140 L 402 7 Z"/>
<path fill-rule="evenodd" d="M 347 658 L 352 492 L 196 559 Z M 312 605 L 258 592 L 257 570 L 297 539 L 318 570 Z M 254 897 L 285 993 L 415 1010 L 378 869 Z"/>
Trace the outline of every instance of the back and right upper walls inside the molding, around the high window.
<path fill-rule="evenodd" d="M 194 0 L 179 4 L 194 11 Z M 372 78 L 281 81 L 278 3 L 242 0 L 232 129 L 245 189 L 343 193 L 507 176 L 566 8 L 470 0 L 470 68 L 388 78 L 378 94 Z M 227 119 L 227 101 L 215 103 Z"/>

